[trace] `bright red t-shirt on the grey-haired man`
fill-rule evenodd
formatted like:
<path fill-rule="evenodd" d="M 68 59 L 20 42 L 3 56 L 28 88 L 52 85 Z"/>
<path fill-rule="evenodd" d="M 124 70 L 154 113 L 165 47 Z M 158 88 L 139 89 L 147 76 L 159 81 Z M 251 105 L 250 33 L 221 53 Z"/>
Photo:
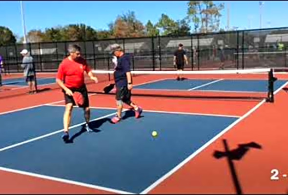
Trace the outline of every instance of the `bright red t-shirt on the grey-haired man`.
<path fill-rule="evenodd" d="M 79 88 L 84 84 L 84 71 L 90 72 L 85 59 L 74 61 L 65 58 L 59 65 L 57 78 L 61 79 L 68 88 Z"/>

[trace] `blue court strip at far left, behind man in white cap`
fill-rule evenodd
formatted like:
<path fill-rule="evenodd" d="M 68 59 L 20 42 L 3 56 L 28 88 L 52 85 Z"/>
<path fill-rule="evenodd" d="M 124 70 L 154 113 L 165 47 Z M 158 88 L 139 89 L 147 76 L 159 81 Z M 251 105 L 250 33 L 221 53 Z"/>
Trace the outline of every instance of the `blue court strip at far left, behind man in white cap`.
<path fill-rule="evenodd" d="M 37 85 L 56 83 L 55 78 L 37 78 Z M 2 80 L 3 85 L 9 86 L 26 86 L 25 78 L 9 78 Z"/>

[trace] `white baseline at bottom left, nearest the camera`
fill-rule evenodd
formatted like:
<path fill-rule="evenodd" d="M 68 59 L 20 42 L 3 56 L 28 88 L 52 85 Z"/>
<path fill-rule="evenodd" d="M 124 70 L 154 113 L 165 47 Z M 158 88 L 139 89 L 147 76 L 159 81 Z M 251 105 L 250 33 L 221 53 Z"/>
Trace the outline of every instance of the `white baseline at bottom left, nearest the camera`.
<path fill-rule="evenodd" d="M 82 183 L 82 182 L 78 182 L 78 181 L 73 181 L 70 179 L 62 179 L 62 178 L 53 177 L 53 176 L 45 176 L 45 175 L 34 174 L 34 173 L 26 172 L 26 171 L 20 171 L 20 170 L 9 169 L 9 168 L 4 168 L 4 167 L 0 167 L 0 170 L 6 171 L 6 172 L 11 172 L 11 173 L 16 173 L 16 174 L 21 174 L 21 175 L 26 175 L 26 176 L 39 177 L 39 178 L 48 179 L 48 180 L 52 180 L 52 181 L 58 181 L 58 182 L 83 186 L 83 187 L 87 187 L 87 188 L 93 188 L 93 189 L 97 189 L 97 190 L 103 190 L 103 191 L 112 192 L 112 193 L 116 193 L 116 194 L 125 194 L 125 195 L 134 194 L 134 193 L 116 190 L 116 189 L 112 189 L 112 188 L 106 188 L 106 187 L 102 187 L 102 186 L 97 186 L 97 185 Z"/>

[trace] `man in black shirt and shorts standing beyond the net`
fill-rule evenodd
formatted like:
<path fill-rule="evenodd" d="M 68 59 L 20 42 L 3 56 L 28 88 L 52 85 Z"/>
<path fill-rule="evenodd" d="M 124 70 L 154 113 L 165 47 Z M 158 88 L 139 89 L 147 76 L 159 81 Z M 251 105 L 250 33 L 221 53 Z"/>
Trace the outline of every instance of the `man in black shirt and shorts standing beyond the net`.
<path fill-rule="evenodd" d="M 176 66 L 177 71 L 181 72 L 184 70 L 184 61 L 185 61 L 185 64 L 188 65 L 188 59 L 186 57 L 186 52 L 183 49 L 183 44 L 180 43 L 178 45 L 178 50 L 176 50 L 174 53 L 174 59 L 173 59 L 173 64 L 174 64 L 174 66 Z M 184 80 L 181 73 L 178 74 L 177 80 Z"/>

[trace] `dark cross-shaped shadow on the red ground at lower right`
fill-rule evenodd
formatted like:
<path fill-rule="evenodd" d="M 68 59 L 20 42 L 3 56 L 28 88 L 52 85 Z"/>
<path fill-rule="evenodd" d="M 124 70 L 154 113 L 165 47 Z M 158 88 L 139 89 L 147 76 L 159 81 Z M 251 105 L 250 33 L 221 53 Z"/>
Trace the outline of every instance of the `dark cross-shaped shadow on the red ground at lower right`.
<path fill-rule="evenodd" d="M 233 150 L 229 150 L 226 139 L 223 139 L 223 144 L 224 144 L 225 151 L 224 152 L 215 151 L 213 153 L 213 156 L 216 159 L 220 159 L 223 157 L 225 157 L 227 159 L 227 162 L 229 165 L 229 170 L 231 172 L 231 176 L 233 179 L 235 191 L 237 194 L 242 194 L 242 188 L 241 188 L 240 182 L 238 180 L 238 176 L 237 176 L 237 173 L 235 170 L 233 160 L 241 160 L 251 148 L 262 149 L 262 146 L 259 145 L 258 143 L 250 142 L 250 143 L 245 143 L 245 144 L 238 144 L 238 148 L 235 148 Z"/>

